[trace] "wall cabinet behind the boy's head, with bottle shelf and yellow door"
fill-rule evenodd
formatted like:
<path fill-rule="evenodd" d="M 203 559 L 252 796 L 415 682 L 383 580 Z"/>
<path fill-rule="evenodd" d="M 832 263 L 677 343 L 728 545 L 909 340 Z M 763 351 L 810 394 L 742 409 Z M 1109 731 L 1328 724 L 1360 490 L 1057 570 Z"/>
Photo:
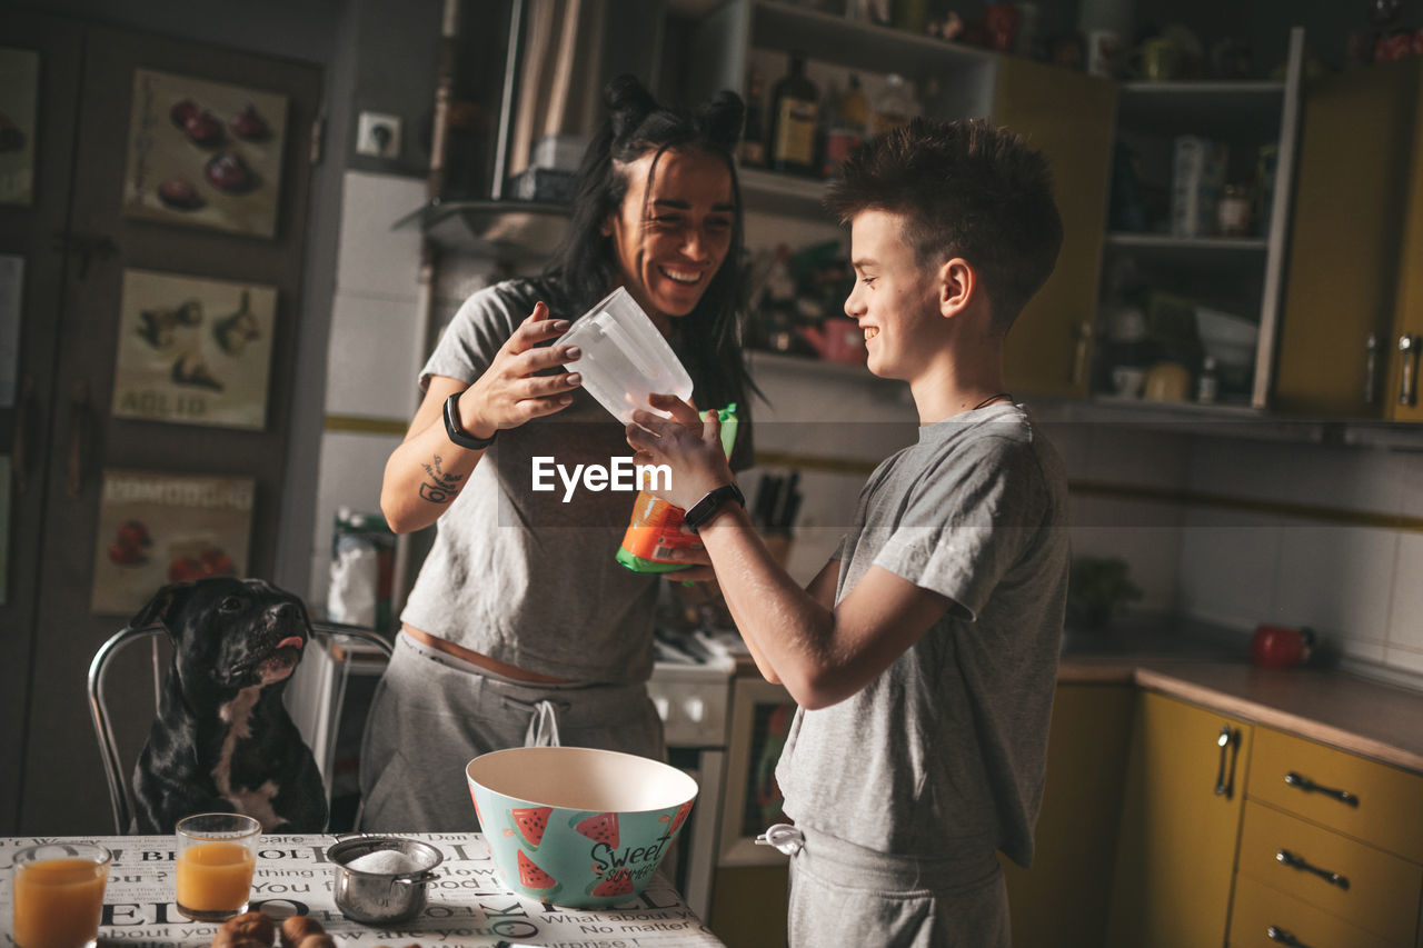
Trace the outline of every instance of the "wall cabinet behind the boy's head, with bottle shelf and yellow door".
<path fill-rule="evenodd" d="M 935 78 L 943 90 L 935 117 L 989 117 L 1043 149 L 1057 182 L 1063 249 L 1053 276 L 1009 333 L 1006 381 L 1015 394 L 1084 396 L 1084 327 L 1097 309 L 1116 84 L 777 0 L 733 0 L 696 27 L 689 98 L 743 90 L 754 57 L 771 56 L 784 68 L 791 50 L 803 51 L 813 68 L 898 73 L 921 85 Z M 746 169 L 741 186 L 751 212 L 825 221 L 821 181 Z M 747 241 L 756 242 L 750 229 Z"/>

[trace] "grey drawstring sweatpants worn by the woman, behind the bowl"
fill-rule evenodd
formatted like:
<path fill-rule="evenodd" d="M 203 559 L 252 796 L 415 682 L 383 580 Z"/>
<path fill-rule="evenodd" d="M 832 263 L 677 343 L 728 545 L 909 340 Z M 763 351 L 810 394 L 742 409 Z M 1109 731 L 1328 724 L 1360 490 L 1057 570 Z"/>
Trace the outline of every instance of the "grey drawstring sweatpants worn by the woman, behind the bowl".
<path fill-rule="evenodd" d="M 411 639 L 376 696 L 360 756 L 364 833 L 471 833 L 480 828 L 464 766 L 505 747 L 556 740 L 666 760 L 662 719 L 645 685 L 528 685 Z"/>

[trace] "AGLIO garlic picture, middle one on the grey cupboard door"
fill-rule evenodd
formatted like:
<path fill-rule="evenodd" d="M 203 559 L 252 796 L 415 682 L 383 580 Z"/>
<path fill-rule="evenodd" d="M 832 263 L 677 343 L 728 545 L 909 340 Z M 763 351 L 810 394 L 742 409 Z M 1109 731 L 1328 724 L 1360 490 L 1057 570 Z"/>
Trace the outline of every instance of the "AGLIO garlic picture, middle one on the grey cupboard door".
<path fill-rule="evenodd" d="M 272 286 L 125 269 L 114 417 L 260 430 L 275 325 Z"/>

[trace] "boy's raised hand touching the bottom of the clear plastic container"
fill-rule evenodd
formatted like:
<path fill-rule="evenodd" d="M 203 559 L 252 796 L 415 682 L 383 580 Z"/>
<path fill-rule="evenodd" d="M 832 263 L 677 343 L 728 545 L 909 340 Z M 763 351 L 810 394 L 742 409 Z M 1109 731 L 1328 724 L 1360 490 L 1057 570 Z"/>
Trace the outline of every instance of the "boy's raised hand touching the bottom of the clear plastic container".
<path fill-rule="evenodd" d="M 653 394 L 649 404 L 672 414 L 663 418 L 636 410 L 628 426 L 628 444 L 635 464 L 666 464 L 672 468 L 666 490 L 653 491 L 669 504 L 690 508 L 709 491 L 736 480 L 721 451 L 721 421 L 716 411 L 699 418 L 696 409 L 667 394 Z"/>

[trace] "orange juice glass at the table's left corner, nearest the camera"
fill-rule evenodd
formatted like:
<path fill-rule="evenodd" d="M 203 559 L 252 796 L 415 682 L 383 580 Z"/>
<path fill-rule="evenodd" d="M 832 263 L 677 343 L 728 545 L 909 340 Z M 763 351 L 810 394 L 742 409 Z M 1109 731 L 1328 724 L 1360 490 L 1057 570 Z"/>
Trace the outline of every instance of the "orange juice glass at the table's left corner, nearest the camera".
<path fill-rule="evenodd" d="M 88 843 L 48 843 L 14 855 L 14 944 L 87 948 L 98 941 L 110 853 Z"/>

